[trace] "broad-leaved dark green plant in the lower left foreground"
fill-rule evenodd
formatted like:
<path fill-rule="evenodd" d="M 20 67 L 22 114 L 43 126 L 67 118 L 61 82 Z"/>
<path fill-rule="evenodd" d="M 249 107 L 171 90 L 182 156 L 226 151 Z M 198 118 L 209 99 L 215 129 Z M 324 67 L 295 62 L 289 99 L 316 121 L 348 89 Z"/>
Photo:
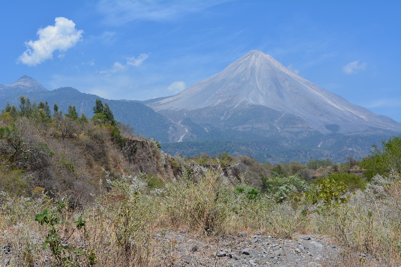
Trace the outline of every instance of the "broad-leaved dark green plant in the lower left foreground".
<path fill-rule="evenodd" d="M 82 216 L 79 216 L 78 220 L 74 222 L 76 225 L 73 232 L 65 240 L 60 235 L 59 225 L 62 223 L 62 217 L 60 213 L 63 212 L 67 206 L 62 198 L 59 202 L 55 202 L 55 210 L 43 210 L 42 213 L 36 214 L 35 221 L 40 225 L 46 225 L 49 228 L 49 232 L 45 237 L 42 249 L 45 250 L 49 247 L 55 262 L 52 266 L 54 267 L 81 267 L 83 263 L 87 266 L 93 266 L 97 263 L 95 252 L 89 248 L 86 248 L 88 244 L 83 242 L 83 246 L 75 246 L 68 244 L 70 237 L 73 235 L 75 230 L 83 232 L 83 237 L 86 239 L 85 234 L 85 220 Z M 85 241 L 85 240 L 84 240 Z"/>

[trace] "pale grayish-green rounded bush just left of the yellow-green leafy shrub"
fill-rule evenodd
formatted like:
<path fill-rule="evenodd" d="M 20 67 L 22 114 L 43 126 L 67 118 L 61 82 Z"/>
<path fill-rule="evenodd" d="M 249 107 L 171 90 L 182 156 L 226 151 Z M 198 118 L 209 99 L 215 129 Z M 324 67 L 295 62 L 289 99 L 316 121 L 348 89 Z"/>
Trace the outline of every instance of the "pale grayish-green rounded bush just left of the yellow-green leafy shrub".
<path fill-rule="evenodd" d="M 275 201 L 283 202 L 305 192 L 308 189 L 308 184 L 299 176 L 292 175 L 283 178 L 264 179 L 263 188 L 266 190 L 266 194 L 270 195 Z"/>

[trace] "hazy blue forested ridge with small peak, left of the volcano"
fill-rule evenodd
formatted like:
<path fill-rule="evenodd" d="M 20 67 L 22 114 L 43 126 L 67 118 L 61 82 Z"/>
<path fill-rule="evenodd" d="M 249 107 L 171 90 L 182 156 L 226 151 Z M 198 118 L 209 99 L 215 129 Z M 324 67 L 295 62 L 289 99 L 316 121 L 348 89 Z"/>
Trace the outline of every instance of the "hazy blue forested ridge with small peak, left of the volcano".
<path fill-rule="evenodd" d="M 129 124 L 136 133 L 154 138 L 158 142 L 170 142 L 169 136 L 177 136 L 182 131 L 180 127 L 177 128 L 175 123 L 138 101 L 107 100 L 97 95 L 81 93 L 72 87 L 48 91 L 28 76 L 21 77 L 11 85 L 0 85 L 0 106 L 4 107 L 7 101 L 10 105 L 18 106 L 20 95 L 24 95 L 36 103 L 47 101 L 51 107 L 57 103 L 64 112 L 67 111 L 69 105 L 75 105 L 79 113 L 83 112 L 88 117 L 93 115 L 92 106 L 95 99 L 101 99 L 103 102 L 109 103 L 117 120 Z"/>

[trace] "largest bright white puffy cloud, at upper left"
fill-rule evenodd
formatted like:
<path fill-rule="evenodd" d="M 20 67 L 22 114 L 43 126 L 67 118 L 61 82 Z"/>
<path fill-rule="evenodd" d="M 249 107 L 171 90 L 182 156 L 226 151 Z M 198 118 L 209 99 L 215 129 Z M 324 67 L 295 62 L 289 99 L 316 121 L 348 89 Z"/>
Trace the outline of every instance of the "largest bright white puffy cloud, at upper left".
<path fill-rule="evenodd" d="M 26 51 L 18 57 L 17 62 L 28 66 L 36 66 L 47 59 L 53 59 L 53 52 L 67 51 L 81 40 L 83 30 L 75 29 L 75 23 L 67 18 L 58 17 L 54 26 L 39 28 L 39 39 L 25 42 Z M 64 54 L 60 54 L 63 58 Z"/>

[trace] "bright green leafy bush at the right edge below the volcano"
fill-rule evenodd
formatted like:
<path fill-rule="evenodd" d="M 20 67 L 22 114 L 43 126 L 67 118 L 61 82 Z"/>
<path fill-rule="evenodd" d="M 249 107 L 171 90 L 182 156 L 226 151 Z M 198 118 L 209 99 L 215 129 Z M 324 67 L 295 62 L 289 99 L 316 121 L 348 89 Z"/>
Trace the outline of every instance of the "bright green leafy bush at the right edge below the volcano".
<path fill-rule="evenodd" d="M 391 170 L 401 173 L 401 137 L 394 136 L 382 141 L 382 150 L 372 146 L 371 154 L 364 158 L 359 166 L 365 169 L 364 176 L 371 179 L 376 174 L 389 176 Z"/>

